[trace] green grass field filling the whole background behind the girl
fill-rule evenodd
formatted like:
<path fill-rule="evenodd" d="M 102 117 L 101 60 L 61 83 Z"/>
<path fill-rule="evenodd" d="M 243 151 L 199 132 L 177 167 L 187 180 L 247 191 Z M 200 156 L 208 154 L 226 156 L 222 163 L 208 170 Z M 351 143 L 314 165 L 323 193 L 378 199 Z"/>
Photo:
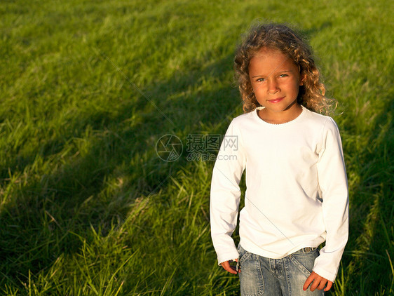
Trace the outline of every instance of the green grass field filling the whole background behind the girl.
<path fill-rule="evenodd" d="M 394 294 L 393 3 L 0 2 L 0 295 L 239 295 L 210 241 L 213 161 L 257 18 L 309 39 L 343 139 L 351 232 L 329 295 Z M 184 144 L 156 154 L 162 135 Z M 235 237 L 237 237 L 235 235 Z"/>

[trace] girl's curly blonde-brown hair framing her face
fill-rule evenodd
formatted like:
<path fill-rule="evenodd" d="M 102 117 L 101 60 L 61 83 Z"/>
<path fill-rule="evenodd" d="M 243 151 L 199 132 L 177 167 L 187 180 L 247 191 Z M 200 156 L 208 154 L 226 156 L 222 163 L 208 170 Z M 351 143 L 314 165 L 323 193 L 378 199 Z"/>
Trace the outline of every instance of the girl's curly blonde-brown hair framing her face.
<path fill-rule="evenodd" d="M 311 48 L 287 25 L 257 24 L 250 29 L 234 58 L 236 79 L 243 100 L 243 111 L 252 112 L 260 106 L 249 78 L 249 62 L 261 48 L 276 49 L 287 55 L 300 69 L 303 85 L 299 87 L 297 102 L 313 112 L 329 114 L 336 101 L 325 97 L 325 86 L 313 60 Z"/>

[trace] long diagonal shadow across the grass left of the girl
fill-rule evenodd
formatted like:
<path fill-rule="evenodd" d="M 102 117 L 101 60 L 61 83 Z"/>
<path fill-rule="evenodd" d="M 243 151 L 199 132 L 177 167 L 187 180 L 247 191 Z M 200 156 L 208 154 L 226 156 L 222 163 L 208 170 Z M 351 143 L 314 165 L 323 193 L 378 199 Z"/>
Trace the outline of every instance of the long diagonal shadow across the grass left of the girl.
<path fill-rule="evenodd" d="M 91 226 L 105 235 L 124 221 L 137 197 L 166 187 L 170 176 L 188 161 L 185 151 L 171 163 L 158 159 L 155 147 L 161 135 L 178 135 L 185 144 L 188 133 L 209 133 L 204 124 L 215 128 L 218 123 L 223 124 L 215 132 L 224 133 L 226 115 L 239 106 L 238 90 L 231 86 L 203 90 L 201 83 L 212 76 L 223 79 L 231 71 L 231 60 L 179 72 L 170 81 L 142 90 L 174 124 L 140 95 L 124 104 L 116 117 L 95 112 L 76 118 L 69 121 L 67 133 L 43 142 L 36 154 L 10 159 L 8 168 L 22 173 L 40 165 L 38 154 L 48 161 L 74 139 L 83 139 L 86 130 L 93 130 L 86 152 L 77 151 L 65 163 L 55 163 L 46 175 L 12 185 L 12 200 L 0 212 L 0 286 L 22 288 L 30 273 L 45 272 L 61 254 L 79 252 L 81 238 L 93 239 Z M 125 88 L 125 97 L 126 92 L 137 93 L 133 86 Z"/>

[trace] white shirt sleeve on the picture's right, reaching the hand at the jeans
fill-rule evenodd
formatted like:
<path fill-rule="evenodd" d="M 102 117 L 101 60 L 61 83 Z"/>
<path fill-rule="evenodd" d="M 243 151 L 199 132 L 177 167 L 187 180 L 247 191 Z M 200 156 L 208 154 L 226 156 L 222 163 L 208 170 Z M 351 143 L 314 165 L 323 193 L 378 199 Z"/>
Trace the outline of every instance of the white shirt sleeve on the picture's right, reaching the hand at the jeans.
<path fill-rule="evenodd" d="M 322 214 L 326 227 L 325 246 L 315 260 L 313 271 L 334 281 L 348 241 L 348 182 L 341 137 L 337 124 L 329 118 L 322 134 L 318 161 Z"/>

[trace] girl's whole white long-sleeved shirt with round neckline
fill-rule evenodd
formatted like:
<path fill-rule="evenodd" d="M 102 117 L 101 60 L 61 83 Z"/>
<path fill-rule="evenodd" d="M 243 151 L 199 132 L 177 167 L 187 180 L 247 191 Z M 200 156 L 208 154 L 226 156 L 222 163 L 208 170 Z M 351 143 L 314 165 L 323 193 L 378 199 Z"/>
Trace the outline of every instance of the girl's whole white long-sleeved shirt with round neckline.
<path fill-rule="evenodd" d="M 313 271 L 334 281 L 348 240 L 341 137 L 331 117 L 302 109 L 283 124 L 266 123 L 257 109 L 231 121 L 212 172 L 212 241 L 219 263 L 238 258 L 231 235 L 246 170 L 240 245 L 279 259 L 325 241 Z"/>

